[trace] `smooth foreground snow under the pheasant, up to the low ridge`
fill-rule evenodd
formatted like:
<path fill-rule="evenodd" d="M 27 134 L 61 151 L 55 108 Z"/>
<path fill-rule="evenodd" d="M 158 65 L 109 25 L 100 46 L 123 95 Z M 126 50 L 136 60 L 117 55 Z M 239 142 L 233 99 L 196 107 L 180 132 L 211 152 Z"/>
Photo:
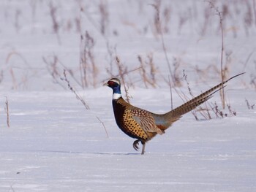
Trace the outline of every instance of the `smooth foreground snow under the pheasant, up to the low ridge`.
<path fill-rule="evenodd" d="M 237 102 L 241 94 L 230 99 L 237 116 L 195 121 L 184 115 L 140 155 L 116 127 L 106 89 L 95 98 L 94 90 L 87 93 L 91 110 L 72 93 L 10 93 L 10 128 L 1 115 L 0 191 L 256 190 L 256 113 Z M 132 94 L 140 107 L 167 110 L 157 90 Z M 243 96 L 253 101 L 255 92 Z"/>

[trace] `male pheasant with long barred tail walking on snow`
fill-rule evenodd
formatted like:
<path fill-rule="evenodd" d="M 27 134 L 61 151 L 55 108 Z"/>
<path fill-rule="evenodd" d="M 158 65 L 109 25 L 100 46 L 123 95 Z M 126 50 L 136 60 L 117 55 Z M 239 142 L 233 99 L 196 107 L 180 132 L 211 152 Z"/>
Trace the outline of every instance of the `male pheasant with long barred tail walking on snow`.
<path fill-rule="evenodd" d="M 157 134 L 164 134 L 167 128 L 181 118 L 181 115 L 184 115 L 185 113 L 194 110 L 195 107 L 200 104 L 203 104 L 203 102 L 210 99 L 214 93 L 224 88 L 226 82 L 241 74 L 237 74 L 230 79 L 219 83 L 194 99 L 181 104 L 181 106 L 176 109 L 161 115 L 140 109 L 127 103 L 121 96 L 121 82 L 118 78 L 111 78 L 104 85 L 113 89 L 112 104 L 116 124 L 121 131 L 124 131 L 129 137 L 137 139 L 133 142 L 135 150 L 139 150 L 139 142 L 143 145 L 141 151 L 141 154 L 143 155 L 145 153 L 146 142 L 151 140 Z"/>

